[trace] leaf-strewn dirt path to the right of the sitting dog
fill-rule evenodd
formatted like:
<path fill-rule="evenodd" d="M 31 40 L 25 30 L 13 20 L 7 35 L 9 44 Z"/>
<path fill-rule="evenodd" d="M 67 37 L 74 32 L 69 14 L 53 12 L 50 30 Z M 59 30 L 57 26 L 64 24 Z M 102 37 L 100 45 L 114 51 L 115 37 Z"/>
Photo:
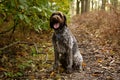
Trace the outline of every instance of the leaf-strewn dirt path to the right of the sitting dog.
<path fill-rule="evenodd" d="M 84 58 L 84 70 L 67 75 L 66 80 L 120 80 L 120 58 L 106 50 L 102 51 L 103 47 L 98 46 L 88 34 L 82 33 L 75 26 L 71 25 L 70 28 L 78 40 Z"/>

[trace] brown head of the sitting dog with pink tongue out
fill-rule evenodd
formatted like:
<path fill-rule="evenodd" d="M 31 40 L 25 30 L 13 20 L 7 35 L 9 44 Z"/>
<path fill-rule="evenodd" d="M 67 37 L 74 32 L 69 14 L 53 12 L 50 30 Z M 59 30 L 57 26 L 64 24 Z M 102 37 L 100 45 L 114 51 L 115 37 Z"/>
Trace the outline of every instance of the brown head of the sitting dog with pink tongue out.
<path fill-rule="evenodd" d="M 66 25 L 66 17 L 62 12 L 54 12 L 50 17 L 50 27 L 57 30 Z"/>

